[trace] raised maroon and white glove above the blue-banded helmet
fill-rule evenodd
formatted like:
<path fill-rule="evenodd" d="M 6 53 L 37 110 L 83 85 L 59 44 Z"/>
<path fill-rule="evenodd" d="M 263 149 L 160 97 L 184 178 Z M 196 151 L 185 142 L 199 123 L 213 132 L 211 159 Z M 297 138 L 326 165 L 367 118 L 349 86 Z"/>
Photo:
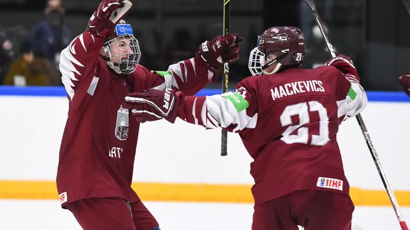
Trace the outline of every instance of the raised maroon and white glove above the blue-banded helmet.
<path fill-rule="evenodd" d="M 87 31 L 99 33 L 104 29 L 112 29 L 123 18 L 132 6 L 129 0 L 102 0 L 98 9 L 88 21 Z"/>

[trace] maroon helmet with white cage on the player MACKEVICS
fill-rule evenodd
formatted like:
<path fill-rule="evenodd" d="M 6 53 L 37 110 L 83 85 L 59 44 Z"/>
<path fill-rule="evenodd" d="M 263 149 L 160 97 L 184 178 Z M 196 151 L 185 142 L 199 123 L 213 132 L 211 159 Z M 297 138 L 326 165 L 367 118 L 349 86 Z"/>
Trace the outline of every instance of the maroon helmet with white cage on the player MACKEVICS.
<path fill-rule="evenodd" d="M 270 53 L 275 54 L 275 60 L 266 61 Z M 252 75 L 262 75 L 270 65 L 278 62 L 273 72 L 286 65 L 302 65 L 305 57 L 305 38 L 300 29 L 293 26 L 272 27 L 258 37 L 258 46 L 249 56 L 249 70 Z"/>

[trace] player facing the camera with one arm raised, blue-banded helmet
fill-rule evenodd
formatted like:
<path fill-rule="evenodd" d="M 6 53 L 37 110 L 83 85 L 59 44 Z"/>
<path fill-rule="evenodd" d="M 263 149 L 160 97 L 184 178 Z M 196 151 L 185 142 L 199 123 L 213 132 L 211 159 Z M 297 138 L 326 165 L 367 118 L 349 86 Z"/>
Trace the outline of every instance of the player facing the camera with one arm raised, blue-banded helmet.
<path fill-rule="evenodd" d="M 131 187 L 140 122 L 125 108 L 127 93 L 174 88 L 193 95 L 215 80 L 223 58 L 238 59 L 241 38 L 219 36 L 201 45 L 199 57 L 150 72 L 138 65 L 138 41 L 122 20 L 131 6 L 102 0 L 86 31 L 61 53 L 69 110 L 57 187 L 62 207 L 83 229 L 159 229 Z"/>

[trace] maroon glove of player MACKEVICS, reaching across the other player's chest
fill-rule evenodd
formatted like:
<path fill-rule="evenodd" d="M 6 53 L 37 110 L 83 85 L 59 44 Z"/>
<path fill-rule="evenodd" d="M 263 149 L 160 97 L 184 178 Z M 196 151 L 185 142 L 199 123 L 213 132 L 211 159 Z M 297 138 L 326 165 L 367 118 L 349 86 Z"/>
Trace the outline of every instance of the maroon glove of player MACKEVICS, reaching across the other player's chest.
<path fill-rule="evenodd" d="M 128 94 L 125 102 L 130 105 L 132 114 L 137 121 L 157 121 L 166 119 L 174 123 L 178 116 L 178 106 L 182 98 L 182 92 L 174 89 L 149 89 L 144 92 Z"/>

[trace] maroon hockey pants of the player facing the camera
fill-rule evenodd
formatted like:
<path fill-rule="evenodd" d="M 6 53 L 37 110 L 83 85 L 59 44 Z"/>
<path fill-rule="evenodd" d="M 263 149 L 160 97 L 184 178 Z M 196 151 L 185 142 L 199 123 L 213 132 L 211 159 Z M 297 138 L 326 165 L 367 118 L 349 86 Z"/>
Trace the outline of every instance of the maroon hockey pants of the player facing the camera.
<path fill-rule="evenodd" d="M 141 201 L 129 206 L 120 197 L 91 198 L 80 199 L 67 207 L 85 230 L 152 230 L 158 226 Z"/>

